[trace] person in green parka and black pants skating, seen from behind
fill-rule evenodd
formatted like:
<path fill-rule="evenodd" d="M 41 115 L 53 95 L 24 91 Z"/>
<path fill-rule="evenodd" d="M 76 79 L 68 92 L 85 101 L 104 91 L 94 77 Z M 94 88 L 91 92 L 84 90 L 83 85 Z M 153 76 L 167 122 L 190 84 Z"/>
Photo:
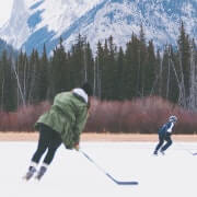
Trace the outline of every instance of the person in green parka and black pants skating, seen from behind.
<path fill-rule="evenodd" d="M 39 140 L 24 176 L 26 181 L 36 173 L 36 166 L 46 151 L 46 157 L 35 176 L 37 179 L 45 174 L 61 143 L 66 149 L 79 150 L 80 135 L 88 119 L 92 93 L 92 86 L 85 82 L 81 88 L 55 96 L 50 109 L 35 124 L 35 128 L 39 131 Z"/>

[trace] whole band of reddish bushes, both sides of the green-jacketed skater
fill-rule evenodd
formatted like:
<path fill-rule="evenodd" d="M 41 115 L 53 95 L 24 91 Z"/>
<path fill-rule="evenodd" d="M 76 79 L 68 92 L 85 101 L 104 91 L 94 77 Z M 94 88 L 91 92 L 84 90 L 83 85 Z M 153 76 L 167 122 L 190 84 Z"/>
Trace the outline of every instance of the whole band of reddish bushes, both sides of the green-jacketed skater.
<path fill-rule="evenodd" d="M 0 113 L 0 130 L 32 131 L 38 116 L 49 108 L 48 102 L 21 107 L 16 113 Z M 170 115 L 178 117 L 176 134 L 196 134 L 197 114 L 161 97 L 125 102 L 92 101 L 85 131 L 155 134 Z"/>

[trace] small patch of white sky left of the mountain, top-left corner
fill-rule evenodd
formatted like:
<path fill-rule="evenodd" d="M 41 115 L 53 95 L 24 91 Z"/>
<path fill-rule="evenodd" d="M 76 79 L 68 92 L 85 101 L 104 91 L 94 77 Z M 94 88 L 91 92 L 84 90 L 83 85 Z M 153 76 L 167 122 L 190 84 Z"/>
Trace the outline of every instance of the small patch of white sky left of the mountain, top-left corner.
<path fill-rule="evenodd" d="M 12 10 L 12 3 L 13 0 L 5 0 L 0 7 L 0 27 L 9 20 Z"/>

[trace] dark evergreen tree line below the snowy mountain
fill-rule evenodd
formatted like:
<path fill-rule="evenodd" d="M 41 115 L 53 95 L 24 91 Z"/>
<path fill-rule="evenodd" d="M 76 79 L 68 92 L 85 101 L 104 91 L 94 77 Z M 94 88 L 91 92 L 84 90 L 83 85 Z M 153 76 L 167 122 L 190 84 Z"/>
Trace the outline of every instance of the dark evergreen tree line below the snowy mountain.
<path fill-rule="evenodd" d="M 20 51 L 16 58 L 3 50 L 0 57 L 0 109 L 15 111 L 21 105 L 53 101 L 83 81 L 93 85 L 94 96 L 102 101 L 126 101 L 158 95 L 188 109 L 197 109 L 197 48 L 181 24 L 177 46 L 162 50 L 146 40 L 143 27 L 131 35 L 125 48 L 114 44 L 113 36 L 96 53 L 79 35 L 70 50 L 62 39 L 50 57 L 43 47 L 30 56 Z"/>

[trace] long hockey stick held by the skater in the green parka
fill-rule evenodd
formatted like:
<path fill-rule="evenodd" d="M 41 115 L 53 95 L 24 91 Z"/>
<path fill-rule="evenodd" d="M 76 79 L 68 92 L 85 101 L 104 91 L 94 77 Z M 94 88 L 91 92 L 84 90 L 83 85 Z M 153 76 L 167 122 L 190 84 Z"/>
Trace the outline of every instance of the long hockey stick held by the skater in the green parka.
<path fill-rule="evenodd" d="M 115 182 L 117 185 L 138 185 L 138 182 L 120 182 L 115 179 L 111 174 L 105 172 L 100 165 L 97 165 L 84 151 L 79 150 L 90 162 L 92 162 L 100 171 L 102 171 L 108 178 Z"/>

